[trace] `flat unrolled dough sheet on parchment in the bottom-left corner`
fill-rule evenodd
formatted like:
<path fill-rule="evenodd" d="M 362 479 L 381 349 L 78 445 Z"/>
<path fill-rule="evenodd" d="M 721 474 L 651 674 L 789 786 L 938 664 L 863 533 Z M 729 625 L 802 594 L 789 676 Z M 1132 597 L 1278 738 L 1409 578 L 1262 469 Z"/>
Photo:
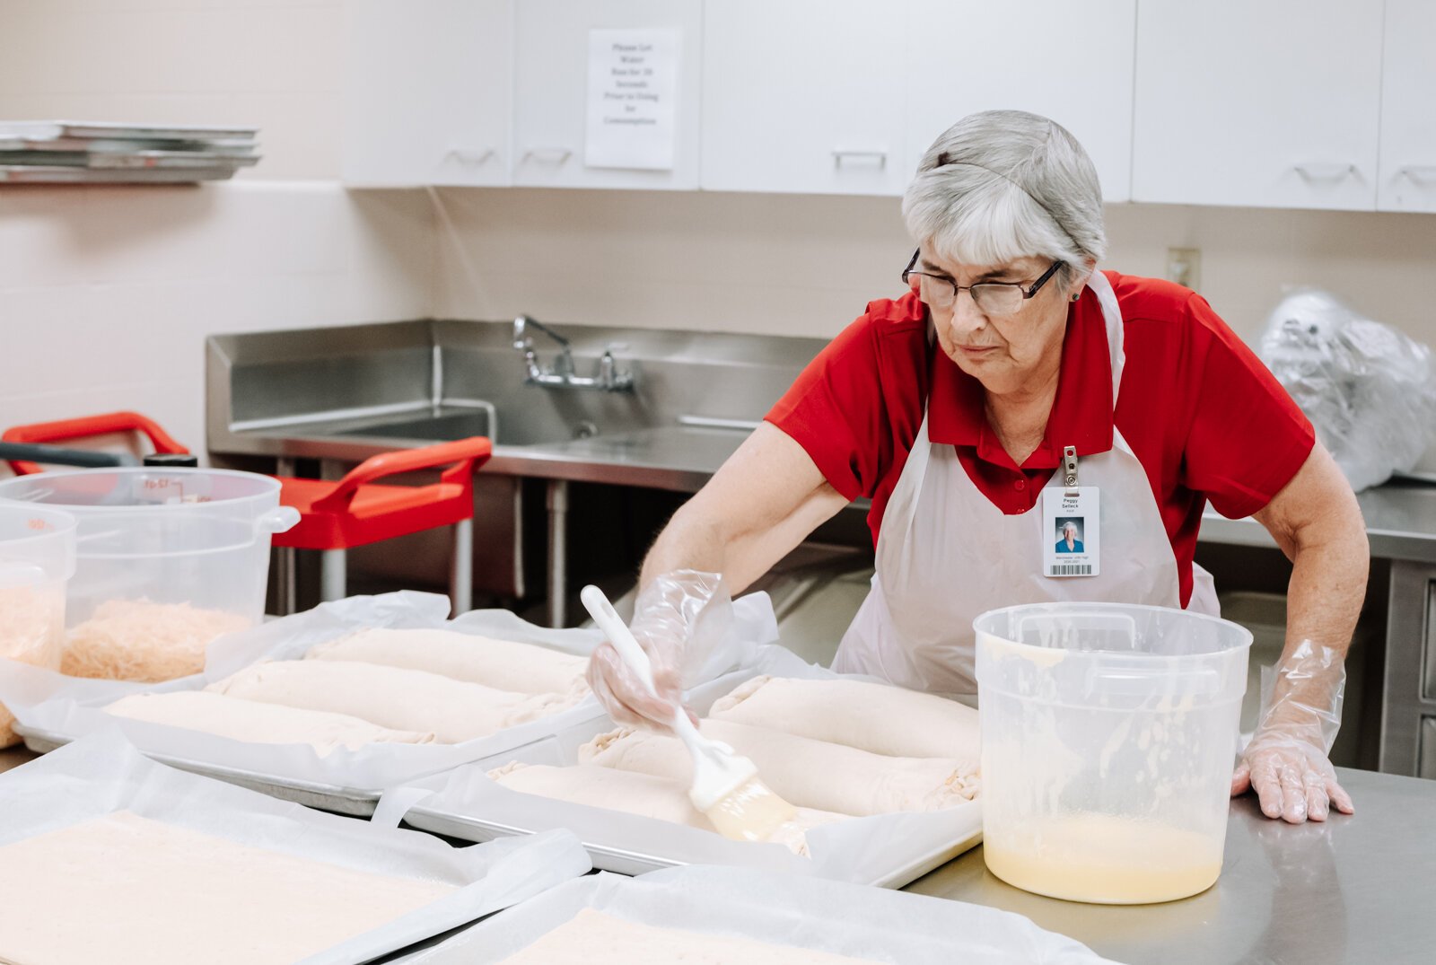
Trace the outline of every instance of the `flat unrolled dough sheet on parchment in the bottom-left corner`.
<path fill-rule="evenodd" d="M 296 962 L 455 890 L 128 811 L 0 847 L 0 961 Z"/>

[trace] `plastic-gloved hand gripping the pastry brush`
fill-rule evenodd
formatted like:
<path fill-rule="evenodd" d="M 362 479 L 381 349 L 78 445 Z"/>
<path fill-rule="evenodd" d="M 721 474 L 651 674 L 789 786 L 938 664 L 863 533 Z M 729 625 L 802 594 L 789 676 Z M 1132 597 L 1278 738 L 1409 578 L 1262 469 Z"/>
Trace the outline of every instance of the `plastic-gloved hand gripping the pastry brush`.
<path fill-rule="evenodd" d="M 682 704 L 684 668 L 709 605 L 727 602 L 728 592 L 717 573 L 675 570 L 643 587 L 633 605 L 629 629 L 653 663 L 658 695 L 623 663 L 605 640 L 589 658 L 589 686 L 617 724 L 646 725 L 666 731 L 673 711 Z M 691 712 L 689 718 L 696 719 Z"/>

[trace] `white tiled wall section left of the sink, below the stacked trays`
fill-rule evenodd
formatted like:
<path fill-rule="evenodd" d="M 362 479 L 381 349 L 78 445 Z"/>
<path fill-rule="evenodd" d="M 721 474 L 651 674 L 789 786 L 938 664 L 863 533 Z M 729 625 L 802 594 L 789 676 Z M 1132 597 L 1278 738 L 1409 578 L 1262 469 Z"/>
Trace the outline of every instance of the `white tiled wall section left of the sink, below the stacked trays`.
<path fill-rule="evenodd" d="M 0 425 L 139 409 L 204 448 L 204 337 L 429 312 L 418 191 L 0 190 Z"/>

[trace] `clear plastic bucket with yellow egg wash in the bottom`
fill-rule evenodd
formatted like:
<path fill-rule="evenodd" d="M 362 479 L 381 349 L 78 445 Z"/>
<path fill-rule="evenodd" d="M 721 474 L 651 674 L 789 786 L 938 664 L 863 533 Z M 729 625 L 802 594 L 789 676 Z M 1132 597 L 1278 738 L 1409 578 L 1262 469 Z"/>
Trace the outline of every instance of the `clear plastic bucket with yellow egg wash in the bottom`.
<path fill-rule="evenodd" d="M 972 626 L 988 870 L 1110 905 L 1211 887 L 1251 632 L 1106 603 L 1012 606 Z"/>

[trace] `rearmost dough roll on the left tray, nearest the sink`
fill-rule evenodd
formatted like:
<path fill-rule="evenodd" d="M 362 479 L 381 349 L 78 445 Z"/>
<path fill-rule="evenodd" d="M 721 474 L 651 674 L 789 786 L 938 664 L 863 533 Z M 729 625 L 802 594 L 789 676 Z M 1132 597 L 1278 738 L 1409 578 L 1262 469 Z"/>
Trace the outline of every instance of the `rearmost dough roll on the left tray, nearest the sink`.
<path fill-rule="evenodd" d="M 589 692 L 583 679 L 587 658 L 454 630 L 359 630 L 320 643 L 306 656 L 426 671 L 516 694 Z"/>

